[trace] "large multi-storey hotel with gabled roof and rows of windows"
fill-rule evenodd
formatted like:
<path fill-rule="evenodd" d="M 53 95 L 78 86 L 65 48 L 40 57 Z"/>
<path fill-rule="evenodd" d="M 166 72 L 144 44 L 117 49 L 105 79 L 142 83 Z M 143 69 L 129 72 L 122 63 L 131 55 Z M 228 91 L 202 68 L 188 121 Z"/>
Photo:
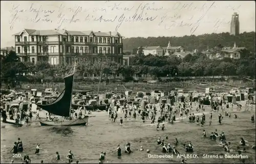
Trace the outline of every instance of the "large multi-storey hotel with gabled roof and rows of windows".
<path fill-rule="evenodd" d="M 123 37 L 118 32 L 24 29 L 14 36 L 20 61 L 72 64 L 78 57 L 79 62 L 123 64 Z"/>

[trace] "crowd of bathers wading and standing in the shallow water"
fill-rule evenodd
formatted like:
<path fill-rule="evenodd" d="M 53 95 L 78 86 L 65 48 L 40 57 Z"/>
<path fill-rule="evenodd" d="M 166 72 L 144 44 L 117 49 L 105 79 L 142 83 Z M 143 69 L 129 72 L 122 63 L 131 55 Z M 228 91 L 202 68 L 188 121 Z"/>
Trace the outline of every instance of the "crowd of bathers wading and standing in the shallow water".
<path fill-rule="evenodd" d="M 237 108 L 238 110 L 241 110 L 241 106 L 237 106 Z M 212 122 L 213 122 L 212 119 L 214 119 L 212 116 L 212 113 L 214 112 L 217 113 L 219 112 L 219 109 L 221 109 L 221 112 L 225 111 L 224 116 L 231 118 L 231 111 L 233 110 L 233 105 L 232 103 L 223 101 L 223 102 L 219 102 L 219 103 L 215 103 L 214 105 L 211 105 L 210 113 L 205 112 L 205 109 L 206 109 L 206 106 L 200 102 L 190 102 L 190 101 L 181 102 L 180 100 L 178 100 L 173 105 L 166 104 L 166 103 L 147 103 L 145 106 L 140 106 L 140 105 L 129 104 L 126 100 L 121 105 L 119 102 L 119 99 L 116 99 L 116 101 L 113 101 L 112 105 L 107 109 L 107 112 L 109 115 L 109 120 L 112 123 L 118 123 L 120 125 L 123 125 L 123 123 L 127 122 L 128 119 L 132 121 L 141 121 L 142 123 L 145 123 L 148 121 L 152 125 L 156 124 L 156 130 L 158 131 L 160 129 L 166 130 L 165 124 L 175 124 L 176 122 L 184 121 L 186 118 L 188 118 L 188 122 L 190 124 L 196 124 L 201 127 L 205 126 L 206 121 L 208 121 L 209 125 L 212 125 Z M 248 110 L 248 105 L 246 110 Z M 121 112 L 118 112 L 118 111 L 121 111 Z M 84 112 L 86 113 L 87 111 L 84 111 Z M 221 112 L 218 114 L 219 124 L 222 124 L 222 121 L 224 119 L 224 116 L 222 116 Z M 81 118 L 83 114 L 82 109 L 78 109 L 76 111 L 73 110 L 72 113 L 74 118 Z M 16 114 L 19 120 L 26 119 L 26 121 L 29 121 L 28 119 L 31 120 L 32 118 L 31 110 L 28 110 L 28 112 L 18 111 Z M 206 114 L 209 114 L 209 120 L 207 120 Z M 3 109 L 1 109 L 1 115 L 4 118 L 5 114 Z M 12 114 L 9 113 L 9 115 L 12 115 Z M 36 117 L 38 117 L 38 114 Z M 237 114 L 234 114 L 233 118 L 238 119 L 239 117 Z M 48 113 L 48 115 L 46 116 L 46 119 L 52 119 L 55 121 L 58 120 L 57 117 L 51 116 L 50 113 Z M 70 119 L 70 118 L 67 118 L 67 119 Z M 250 121 L 254 123 L 254 115 L 251 116 Z M 207 137 L 205 130 L 203 130 L 203 137 Z M 224 151 L 228 153 L 231 148 L 231 143 L 226 142 L 226 137 L 224 132 L 221 132 L 220 134 L 218 134 L 216 129 L 215 132 L 211 132 L 209 135 L 209 138 L 213 140 L 217 140 L 218 137 L 220 142 L 219 145 L 223 146 Z M 165 144 L 165 140 L 160 137 L 157 139 L 157 147 L 161 147 L 161 151 L 163 153 L 172 153 L 174 155 L 180 154 L 180 152 L 177 150 L 178 145 L 179 145 L 178 138 L 175 138 L 173 145 L 171 145 L 170 143 Z M 39 148 L 39 146 L 40 146 L 39 144 L 36 145 L 35 154 L 40 153 L 41 149 Z M 245 146 L 245 140 L 243 138 L 241 138 L 240 146 Z M 18 141 L 14 142 L 14 146 L 11 151 L 13 151 L 14 154 L 23 152 L 23 147 L 24 146 L 22 141 L 20 140 L 20 138 L 18 138 Z M 194 149 L 195 149 L 191 142 L 188 142 L 187 144 L 183 144 L 182 148 L 185 150 L 185 152 L 188 152 L 188 153 L 194 152 Z M 254 147 L 252 147 L 252 149 L 255 149 L 255 145 Z M 140 149 L 138 150 L 144 151 L 143 146 L 141 146 Z M 237 151 L 238 151 L 238 154 L 241 155 L 241 153 L 245 152 L 246 150 L 243 149 L 243 151 L 241 151 L 239 147 Z M 113 152 L 117 152 L 117 156 L 118 158 L 120 158 L 122 154 L 120 145 L 118 145 Z M 147 149 L 146 152 L 150 153 L 150 150 Z M 127 154 L 133 153 L 133 151 L 131 150 L 130 143 L 127 143 L 125 145 L 124 153 L 127 153 Z M 55 155 L 56 155 L 56 160 L 60 160 L 60 154 L 56 152 Z M 106 156 L 105 152 L 100 153 L 99 163 L 104 162 L 105 156 Z M 69 163 L 74 163 L 73 161 L 74 158 L 75 158 L 74 154 L 70 150 L 66 156 L 66 159 L 69 160 Z M 31 162 L 31 159 L 28 154 L 26 154 L 23 157 L 23 161 L 24 163 Z M 41 160 L 41 163 L 43 162 L 44 160 Z M 78 162 L 79 161 L 77 160 L 76 163 Z M 185 163 L 184 158 L 181 159 L 181 163 Z"/>

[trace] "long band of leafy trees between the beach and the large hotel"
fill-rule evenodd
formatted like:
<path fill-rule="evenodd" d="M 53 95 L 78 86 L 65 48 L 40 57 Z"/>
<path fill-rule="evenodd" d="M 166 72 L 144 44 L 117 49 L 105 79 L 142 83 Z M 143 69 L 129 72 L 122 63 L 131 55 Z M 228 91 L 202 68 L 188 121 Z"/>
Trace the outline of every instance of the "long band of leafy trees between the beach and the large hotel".
<path fill-rule="evenodd" d="M 245 55 L 243 55 L 245 56 Z M 241 76 L 255 78 L 255 55 L 247 55 L 241 59 L 223 58 L 209 59 L 205 55 L 189 54 L 181 59 L 176 56 L 135 56 L 130 59 L 131 65 L 116 62 L 81 62 L 76 67 L 76 81 L 96 74 L 103 79 L 112 75 L 115 79 L 132 80 L 134 76 L 142 77 L 189 77 L 189 76 Z M 50 65 L 48 62 L 20 62 L 15 52 L 9 52 L 1 59 L 1 81 L 62 82 L 71 70 L 72 65 Z M 121 76 L 119 76 L 121 75 Z"/>

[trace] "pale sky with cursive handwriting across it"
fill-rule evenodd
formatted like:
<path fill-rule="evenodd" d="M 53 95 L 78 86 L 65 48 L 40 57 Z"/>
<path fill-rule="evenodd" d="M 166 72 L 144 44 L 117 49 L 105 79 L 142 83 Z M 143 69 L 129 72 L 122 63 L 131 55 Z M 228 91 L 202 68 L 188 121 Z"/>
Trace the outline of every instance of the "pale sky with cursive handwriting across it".
<path fill-rule="evenodd" d="M 239 14 L 240 33 L 255 31 L 255 1 L 1 1 L 1 48 L 14 46 L 23 29 L 118 31 L 158 37 L 230 32 Z"/>

